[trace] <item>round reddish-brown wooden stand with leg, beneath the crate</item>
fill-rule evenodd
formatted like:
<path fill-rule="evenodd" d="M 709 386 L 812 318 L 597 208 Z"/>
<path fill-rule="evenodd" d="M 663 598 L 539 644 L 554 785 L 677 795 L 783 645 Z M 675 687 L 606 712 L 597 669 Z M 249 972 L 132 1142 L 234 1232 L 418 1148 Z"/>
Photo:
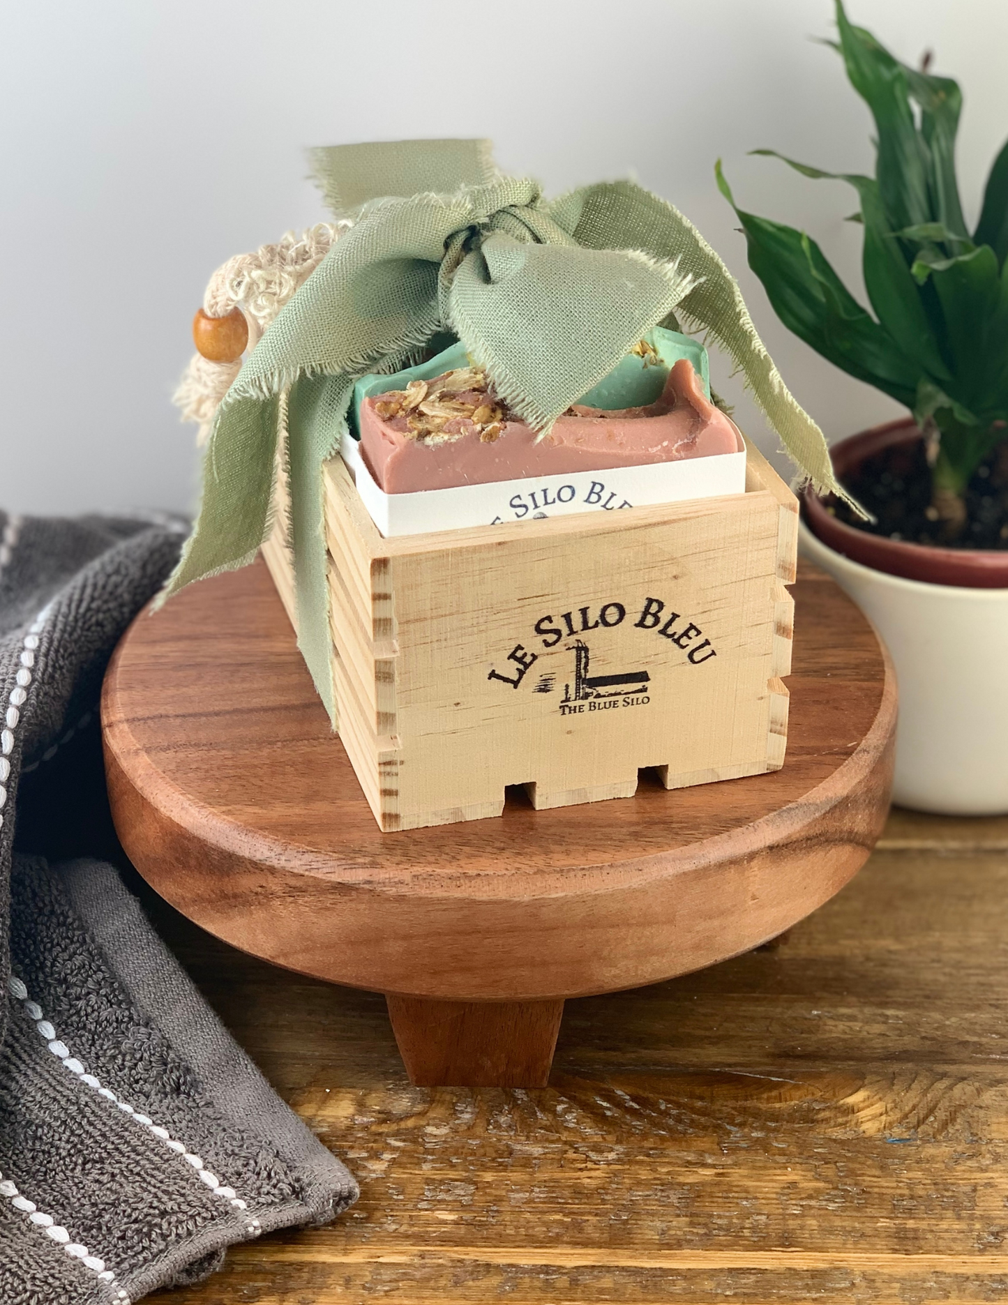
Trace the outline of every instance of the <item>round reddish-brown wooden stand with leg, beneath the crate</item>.
<path fill-rule="evenodd" d="M 383 834 L 261 561 L 141 613 L 102 699 L 112 813 L 172 906 L 253 955 L 386 994 L 419 1084 L 541 1086 L 565 997 L 782 933 L 864 863 L 892 666 L 820 572 L 794 589 L 787 761 L 748 779 Z"/>

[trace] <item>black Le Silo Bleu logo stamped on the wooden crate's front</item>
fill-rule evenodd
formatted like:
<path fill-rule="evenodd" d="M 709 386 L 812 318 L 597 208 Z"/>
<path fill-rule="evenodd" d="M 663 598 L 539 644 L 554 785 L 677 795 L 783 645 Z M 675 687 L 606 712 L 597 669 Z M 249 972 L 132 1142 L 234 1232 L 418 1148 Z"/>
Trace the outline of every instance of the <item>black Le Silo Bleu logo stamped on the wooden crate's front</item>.
<path fill-rule="evenodd" d="M 529 643 L 534 646 L 535 639 L 538 639 L 546 651 L 563 643 L 564 651 L 573 654 L 569 675 L 563 683 L 563 696 L 559 702 L 560 715 L 645 706 L 650 702 L 652 677 L 648 671 L 607 668 L 605 673 L 599 673 L 597 667 L 591 667 L 591 647 L 581 637 L 593 630 L 598 630 L 601 634 L 603 630 L 623 625 L 627 620 L 632 621 L 633 629 L 657 634 L 682 649 L 685 652 L 684 660 L 691 666 L 701 666 L 712 656 L 717 656 L 717 650 L 710 639 L 704 637 L 700 626 L 680 616 L 679 612 L 671 611 L 661 598 L 649 596 L 644 599 L 642 604 L 629 604 L 629 607 L 625 603 L 611 602 L 602 603 L 595 609 L 589 604 L 561 612 L 559 617 L 541 616 L 533 626 L 533 637 L 529 638 Z M 572 642 L 564 643 L 564 639 Z M 594 646 L 599 646 L 597 639 Z M 602 649 L 605 650 L 605 643 Z M 517 689 L 538 660 L 539 652 L 531 651 L 524 643 L 516 643 L 511 652 L 501 659 L 501 669 L 497 669 L 496 666 L 491 667 L 487 679 Z M 594 673 L 591 673 L 593 669 Z M 539 675 L 533 692 L 560 692 L 558 677 L 559 672 L 556 671 Z"/>

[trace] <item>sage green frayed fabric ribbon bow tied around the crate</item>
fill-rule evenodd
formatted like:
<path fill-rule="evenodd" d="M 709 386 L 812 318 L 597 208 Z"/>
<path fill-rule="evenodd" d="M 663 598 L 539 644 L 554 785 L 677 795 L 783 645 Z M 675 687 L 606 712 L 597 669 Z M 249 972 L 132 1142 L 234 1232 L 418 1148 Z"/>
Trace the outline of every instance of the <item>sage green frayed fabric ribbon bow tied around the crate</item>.
<path fill-rule="evenodd" d="M 675 309 L 732 356 L 803 476 L 842 493 L 738 284 L 670 204 L 632 181 L 546 200 L 534 181 L 500 175 L 484 141 L 334 146 L 312 161 L 333 210 L 355 223 L 225 395 L 200 515 L 165 596 L 255 559 L 279 452 L 298 642 L 334 724 L 321 467 L 339 448 L 354 382 L 400 371 L 437 331 L 453 331 L 511 407 L 548 429 Z"/>

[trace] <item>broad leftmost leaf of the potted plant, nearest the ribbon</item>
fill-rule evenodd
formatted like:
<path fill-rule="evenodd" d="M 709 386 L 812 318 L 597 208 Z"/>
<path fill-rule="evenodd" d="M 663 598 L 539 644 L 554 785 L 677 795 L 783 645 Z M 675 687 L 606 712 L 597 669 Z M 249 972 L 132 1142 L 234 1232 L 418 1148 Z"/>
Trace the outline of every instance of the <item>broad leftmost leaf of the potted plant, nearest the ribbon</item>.
<path fill-rule="evenodd" d="M 719 170 L 717 176 L 742 222 L 749 266 L 785 326 L 850 376 L 910 407 L 919 368 L 847 291 L 815 240 L 743 211 Z"/>

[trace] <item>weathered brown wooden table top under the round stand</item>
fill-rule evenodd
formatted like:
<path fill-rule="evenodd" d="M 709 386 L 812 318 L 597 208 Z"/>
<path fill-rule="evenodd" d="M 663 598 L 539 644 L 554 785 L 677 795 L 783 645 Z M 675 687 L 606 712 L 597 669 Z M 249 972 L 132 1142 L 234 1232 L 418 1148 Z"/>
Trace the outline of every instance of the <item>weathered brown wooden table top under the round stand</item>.
<path fill-rule="evenodd" d="M 336 1224 L 161 1305 L 746 1305 L 1008 1291 L 1008 820 L 896 812 L 781 944 L 569 1001 L 551 1086 L 410 1087 L 380 996 L 153 898 L 281 1095 L 354 1169 Z"/>

